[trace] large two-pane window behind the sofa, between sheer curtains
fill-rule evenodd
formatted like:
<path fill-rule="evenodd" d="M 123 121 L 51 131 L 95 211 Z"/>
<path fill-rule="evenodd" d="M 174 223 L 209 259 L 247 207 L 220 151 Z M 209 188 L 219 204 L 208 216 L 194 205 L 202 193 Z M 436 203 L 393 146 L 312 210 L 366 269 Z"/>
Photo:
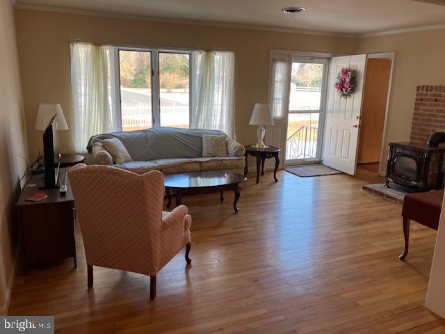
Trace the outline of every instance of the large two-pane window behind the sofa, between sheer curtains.
<path fill-rule="evenodd" d="M 117 51 L 117 112 L 122 131 L 159 126 L 188 128 L 191 53 L 121 48 Z"/>

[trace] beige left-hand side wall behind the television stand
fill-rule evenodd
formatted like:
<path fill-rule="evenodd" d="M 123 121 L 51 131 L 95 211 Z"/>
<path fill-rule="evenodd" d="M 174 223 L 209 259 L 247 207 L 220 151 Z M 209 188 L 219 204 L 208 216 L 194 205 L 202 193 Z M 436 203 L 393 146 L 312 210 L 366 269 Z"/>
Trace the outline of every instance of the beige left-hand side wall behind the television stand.
<path fill-rule="evenodd" d="M 17 45 L 10 0 L 0 0 L 0 314 L 8 304 L 14 267 L 13 205 L 28 157 Z"/>

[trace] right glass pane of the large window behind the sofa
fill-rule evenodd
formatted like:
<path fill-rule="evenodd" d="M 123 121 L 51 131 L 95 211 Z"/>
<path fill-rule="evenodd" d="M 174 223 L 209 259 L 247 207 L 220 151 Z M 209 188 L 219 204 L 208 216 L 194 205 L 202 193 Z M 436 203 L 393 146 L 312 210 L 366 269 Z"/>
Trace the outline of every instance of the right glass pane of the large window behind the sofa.
<path fill-rule="evenodd" d="M 190 54 L 159 52 L 161 127 L 188 128 L 190 123 Z"/>

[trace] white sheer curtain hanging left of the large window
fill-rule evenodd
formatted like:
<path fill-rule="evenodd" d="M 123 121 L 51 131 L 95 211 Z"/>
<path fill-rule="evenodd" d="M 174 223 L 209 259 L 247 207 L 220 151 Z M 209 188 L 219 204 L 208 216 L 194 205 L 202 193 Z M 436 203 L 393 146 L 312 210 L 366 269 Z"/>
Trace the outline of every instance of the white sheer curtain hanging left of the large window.
<path fill-rule="evenodd" d="M 74 100 L 74 141 L 76 152 L 86 152 L 91 136 L 116 129 L 112 98 L 111 47 L 73 42 L 71 84 Z"/>

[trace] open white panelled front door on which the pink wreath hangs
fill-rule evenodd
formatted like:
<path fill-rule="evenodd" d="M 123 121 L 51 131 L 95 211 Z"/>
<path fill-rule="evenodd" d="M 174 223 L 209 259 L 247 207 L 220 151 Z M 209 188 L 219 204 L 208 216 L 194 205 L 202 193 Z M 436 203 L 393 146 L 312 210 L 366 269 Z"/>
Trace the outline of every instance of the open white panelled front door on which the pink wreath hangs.
<path fill-rule="evenodd" d="M 339 97 L 334 88 L 337 74 L 343 68 L 357 71 L 355 92 L 348 97 Z M 334 57 L 331 60 L 329 72 L 323 164 L 341 170 L 343 173 L 355 175 L 363 85 L 366 75 L 366 54 Z"/>

